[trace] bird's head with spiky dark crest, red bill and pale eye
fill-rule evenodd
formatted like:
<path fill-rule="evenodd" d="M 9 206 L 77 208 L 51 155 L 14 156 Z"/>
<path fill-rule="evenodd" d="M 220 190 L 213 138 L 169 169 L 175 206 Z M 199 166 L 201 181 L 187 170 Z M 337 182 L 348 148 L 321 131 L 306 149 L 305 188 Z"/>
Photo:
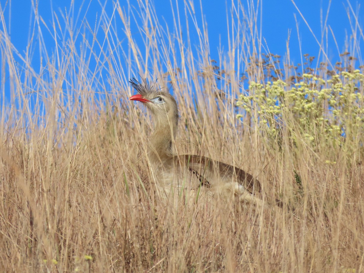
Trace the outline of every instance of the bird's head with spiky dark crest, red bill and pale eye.
<path fill-rule="evenodd" d="M 172 95 L 157 89 L 154 84 L 147 83 L 146 79 L 142 83 L 135 78 L 129 81 L 131 86 L 137 90 L 139 94 L 131 96 L 130 100 L 138 100 L 152 111 L 157 126 L 161 124 L 178 122 L 177 103 Z"/>

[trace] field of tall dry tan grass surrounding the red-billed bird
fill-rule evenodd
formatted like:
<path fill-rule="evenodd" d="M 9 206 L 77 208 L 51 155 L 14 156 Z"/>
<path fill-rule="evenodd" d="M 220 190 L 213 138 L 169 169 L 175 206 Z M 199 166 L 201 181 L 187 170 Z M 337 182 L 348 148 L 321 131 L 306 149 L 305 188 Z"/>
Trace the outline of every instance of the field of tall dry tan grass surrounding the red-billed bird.
<path fill-rule="evenodd" d="M 240 12 L 229 51 L 211 60 L 204 25 L 190 26 L 201 33 L 195 50 L 177 19 L 163 28 L 153 7 L 139 12 L 143 44 L 118 5 L 123 25 L 105 24 L 104 40 L 93 22 L 87 39 L 55 19 L 54 50 L 32 40 L 40 70 L 1 17 L 1 96 L 8 88 L 11 101 L 0 119 L 0 271 L 363 272 L 359 40 L 338 63 L 278 62 L 257 39 L 259 18 Z M 177 99 L 176 153 L 241 167 L 292 211 L 219 198 L 167 206 L 149 172 L 151 117 L 128 101 L 138 74 Z"/>

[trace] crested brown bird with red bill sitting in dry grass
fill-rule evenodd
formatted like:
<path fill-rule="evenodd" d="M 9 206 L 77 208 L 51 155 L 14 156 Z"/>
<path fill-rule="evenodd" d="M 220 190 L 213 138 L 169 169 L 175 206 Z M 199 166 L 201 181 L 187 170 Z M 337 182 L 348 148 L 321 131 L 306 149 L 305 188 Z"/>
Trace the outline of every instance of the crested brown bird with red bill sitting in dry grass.
<path fill-rule="evenodd" d="M 218 195 L 238 196 L 244 202 L 262 204 L 262 185 L 253 175 L 244 170 L 196 154 L 176 155 L 173 153 L 175 137 L 178 129 L 178 106 L 174 97 L 163 92 L 155 84 L 146 79 L 139 82 L 132 78 L 131 86 L 138 92 L 129 98 L 139 101 L 151 111 L 154 117 L 154 131 L 148 144 L 148 159 L 153 175 L 161 193 L 168 196 L 173 191 L 179 191 L 186 186 L 186 177 L 194 177 L 197 185 L 190 189 L 205 189 Z M 278 207 L 283 203 L 276 199 Z"/>

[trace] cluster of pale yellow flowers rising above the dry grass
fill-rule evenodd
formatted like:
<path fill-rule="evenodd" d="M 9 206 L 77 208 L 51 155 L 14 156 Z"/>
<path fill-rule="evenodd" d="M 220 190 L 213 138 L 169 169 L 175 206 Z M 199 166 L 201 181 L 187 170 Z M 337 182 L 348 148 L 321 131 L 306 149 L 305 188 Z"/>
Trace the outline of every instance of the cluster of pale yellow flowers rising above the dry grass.
<path fill-rule="evenodd" d="M 303 74 L 300 82 L 290 84 L 250 82 L 239 97 L 237 106 L 244 111 L 237 118 L 249 114 L 259 130 L 274 137 L 283 128 L 298 128 L 309 142 L 315 141 L 317 133 L 327 138 L 355 134 L 364 127 L 363 81 L 364 75 L 354 70 L 329 79 Z"/>

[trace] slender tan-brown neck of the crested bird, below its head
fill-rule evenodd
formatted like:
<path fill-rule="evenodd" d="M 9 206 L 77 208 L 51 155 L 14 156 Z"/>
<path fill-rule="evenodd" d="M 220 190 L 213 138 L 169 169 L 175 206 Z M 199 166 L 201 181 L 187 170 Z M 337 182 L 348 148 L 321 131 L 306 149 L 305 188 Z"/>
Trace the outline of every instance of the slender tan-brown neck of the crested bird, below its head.
<path fill-rule="evenodd" d="M 158 119 L 155 121 L 154 132 L 150 138 L 151 162 L 163 162 L 173 155 L 173 143 L 177 132 L 177 124 L 173 119 Z"/>

